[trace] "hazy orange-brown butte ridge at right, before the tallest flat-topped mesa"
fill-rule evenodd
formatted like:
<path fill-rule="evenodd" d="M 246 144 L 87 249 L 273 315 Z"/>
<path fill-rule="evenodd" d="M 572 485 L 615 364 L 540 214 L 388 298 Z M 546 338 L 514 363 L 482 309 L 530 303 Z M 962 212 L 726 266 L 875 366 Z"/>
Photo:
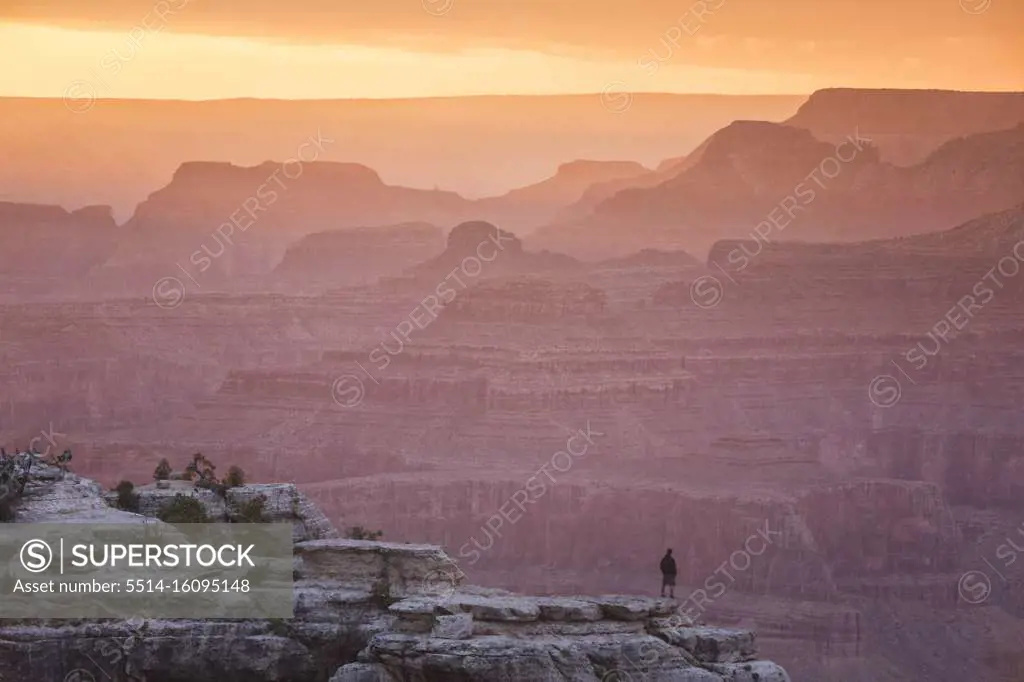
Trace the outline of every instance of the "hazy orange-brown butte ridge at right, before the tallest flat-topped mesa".
<path fill-rule="evenodd" d="M 756 227 L 769 242 L 853 242 L 946 229 L 1024 197 L 1024 125 L 948 140 L 905 168 L 860 133 L 847 136 L 846 161 L 837 154 L 805 129 L 737 121 L 671 179 L 622 190 L 527 245 L 588 259 L 643 247 L 705 253 L 721 239 L 753 240 Z"/>

